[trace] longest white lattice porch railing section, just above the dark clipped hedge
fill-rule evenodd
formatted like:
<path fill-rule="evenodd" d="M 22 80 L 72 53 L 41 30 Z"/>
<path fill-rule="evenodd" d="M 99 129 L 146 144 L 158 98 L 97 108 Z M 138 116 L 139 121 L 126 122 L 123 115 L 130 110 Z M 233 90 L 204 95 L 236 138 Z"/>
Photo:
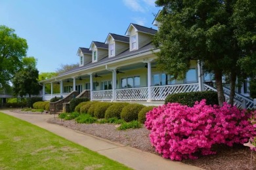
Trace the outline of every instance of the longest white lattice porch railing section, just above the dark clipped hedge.
<path fill-rule="evenodd" d="M 152 86 L 152 100 L 165 100 L 165 97 L 171 93 L 198 92 L 198 83 L 193 84 L 175 84 L 167 86 Z"/>

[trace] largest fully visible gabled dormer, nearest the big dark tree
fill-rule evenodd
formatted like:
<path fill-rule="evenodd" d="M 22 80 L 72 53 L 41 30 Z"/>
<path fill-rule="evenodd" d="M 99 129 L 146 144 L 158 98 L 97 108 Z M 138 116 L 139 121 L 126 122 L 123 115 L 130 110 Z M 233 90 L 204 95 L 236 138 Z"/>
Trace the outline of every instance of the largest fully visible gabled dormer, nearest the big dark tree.
<path fill-rule="evenodd" d="M 130 24 L 125 35 L 129 36 L 130 51 L 138 50 L 152 41 L 157 30 L 137 24 Z"/>

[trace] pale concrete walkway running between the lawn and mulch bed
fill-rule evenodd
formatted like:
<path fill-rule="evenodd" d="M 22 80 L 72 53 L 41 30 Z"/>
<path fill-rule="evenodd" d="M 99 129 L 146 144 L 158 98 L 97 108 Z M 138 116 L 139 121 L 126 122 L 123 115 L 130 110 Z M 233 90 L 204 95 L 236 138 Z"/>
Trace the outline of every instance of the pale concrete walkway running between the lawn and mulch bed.
<path fill-rule="evenodd" d="M 99 154 L 102 154 L 112 160 L 123 163 L 124 165 L 127 165 L 127 167 L 131 167 L 133 169 L 200 169 L 199 167 L 186 165 L 179 161 L 166 160 L 156 154 L 142 152 L 139 149 L 131 148 L 119 143 L 113 143 L 106 139 L 81 133 L 64 126 L 49 124 L 47 123 L 47 120 L 49 118 L 53 118 L 54 116 L 51 114 L 18 114 L 11 112 L 11 110 L 0 110 L 0 112 L 20 118 L 36 126 L 42 127 L 43 129 L 47 129 L 60 137 L 64 137 L 69 141 L 80 144 L 81 146 L 85 146 L 90 150 L 98 152 Z"/>

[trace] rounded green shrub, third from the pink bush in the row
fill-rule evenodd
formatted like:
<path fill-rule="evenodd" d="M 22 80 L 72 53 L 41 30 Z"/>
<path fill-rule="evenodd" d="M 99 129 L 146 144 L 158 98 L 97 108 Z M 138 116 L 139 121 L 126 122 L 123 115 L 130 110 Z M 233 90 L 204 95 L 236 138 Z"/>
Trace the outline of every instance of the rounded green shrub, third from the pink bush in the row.
<path fill-rule="evenodd" d="M 112 106 L 108 107 L 108 109 L 105 112 L 105 118 L 120 118 L 121 111 L 123 107 L 128 105 L 129 103 L 114 103 Z"/>

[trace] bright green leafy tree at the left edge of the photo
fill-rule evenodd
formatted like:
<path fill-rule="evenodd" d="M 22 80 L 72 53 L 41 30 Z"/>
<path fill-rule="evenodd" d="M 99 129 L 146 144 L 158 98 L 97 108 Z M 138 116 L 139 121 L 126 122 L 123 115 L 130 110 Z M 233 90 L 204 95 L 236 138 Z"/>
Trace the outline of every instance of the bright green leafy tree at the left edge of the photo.
<path fill-rule="evenodd" d="M 0 88 L 9 85 L 14 74 L 22 67 L 28 44 L 5 25 L 0 25 Z"/>

